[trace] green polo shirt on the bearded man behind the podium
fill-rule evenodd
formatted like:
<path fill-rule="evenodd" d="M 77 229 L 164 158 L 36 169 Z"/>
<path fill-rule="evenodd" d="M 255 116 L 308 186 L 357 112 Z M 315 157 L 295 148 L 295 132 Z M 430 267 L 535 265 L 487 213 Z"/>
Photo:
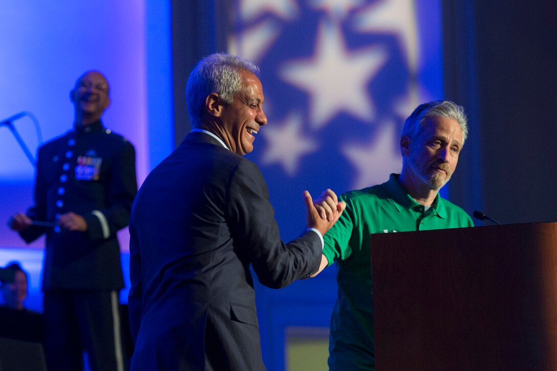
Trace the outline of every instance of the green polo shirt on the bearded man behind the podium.
<path fill-rule="evenodd" d="M 372 233 L 473 227 L 472 219 L 441 198 L 428 211 L 404 191 L 398 174 L 378 186 L 344 193 L 346 209 L 324 236 L 329 265 L 337 262 L 338 299 L 331 316 L 331 370 L 374 370 Z"/>

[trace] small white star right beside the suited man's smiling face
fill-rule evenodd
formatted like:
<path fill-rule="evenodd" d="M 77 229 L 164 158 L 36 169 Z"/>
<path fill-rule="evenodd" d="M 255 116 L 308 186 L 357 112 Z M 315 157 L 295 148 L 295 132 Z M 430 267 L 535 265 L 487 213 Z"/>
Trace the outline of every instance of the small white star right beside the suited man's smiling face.
<path fill-rule="evenodd" d="M 316 141 L 302 135 L 302 122 L 300 114 L 291 113 L 282 123 L 263 128 L 267 141 L 263 164 L 278 163 L 290 177 L 296 174 L 302 155 L 317 150 Z"/>

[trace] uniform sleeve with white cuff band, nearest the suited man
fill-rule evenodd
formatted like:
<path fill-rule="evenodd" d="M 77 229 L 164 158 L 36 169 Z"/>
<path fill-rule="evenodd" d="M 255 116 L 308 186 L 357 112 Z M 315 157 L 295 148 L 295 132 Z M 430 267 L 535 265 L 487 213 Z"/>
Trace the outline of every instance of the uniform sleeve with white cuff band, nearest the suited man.
<path fill-rule="evenodd" d="M 125 140 L 110 169 L 105 208 L 84 215 L 92 241 L 113 237 L 129 223 L 131 204 L 137 193 L 135 149 Z"/>

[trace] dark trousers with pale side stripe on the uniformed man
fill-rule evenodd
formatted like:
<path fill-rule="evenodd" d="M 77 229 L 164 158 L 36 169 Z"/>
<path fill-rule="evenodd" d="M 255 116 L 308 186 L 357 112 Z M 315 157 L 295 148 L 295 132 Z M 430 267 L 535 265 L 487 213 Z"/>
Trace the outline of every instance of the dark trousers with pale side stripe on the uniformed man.
<path fill-rule="evenodd" d="M 49 370 L 123 371 L 118 291 L 45 292 L 45 353 Z"/>

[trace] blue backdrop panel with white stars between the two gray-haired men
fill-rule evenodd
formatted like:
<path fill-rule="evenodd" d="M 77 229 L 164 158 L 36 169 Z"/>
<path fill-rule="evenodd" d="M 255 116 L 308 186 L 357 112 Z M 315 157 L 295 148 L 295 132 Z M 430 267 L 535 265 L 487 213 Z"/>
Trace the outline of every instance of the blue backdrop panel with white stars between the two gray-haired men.
<path fill-rule="evenodd" d="M 267 180 L 282 236 L 317 197 L 399 172 L 400 131 L 443 98 L 438 0 L 241 0 L 229 51 L 260 64 L 268 125 L 248 155 Z"/>

